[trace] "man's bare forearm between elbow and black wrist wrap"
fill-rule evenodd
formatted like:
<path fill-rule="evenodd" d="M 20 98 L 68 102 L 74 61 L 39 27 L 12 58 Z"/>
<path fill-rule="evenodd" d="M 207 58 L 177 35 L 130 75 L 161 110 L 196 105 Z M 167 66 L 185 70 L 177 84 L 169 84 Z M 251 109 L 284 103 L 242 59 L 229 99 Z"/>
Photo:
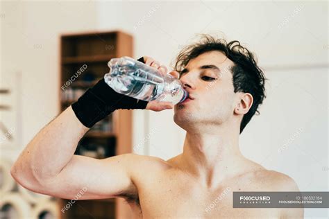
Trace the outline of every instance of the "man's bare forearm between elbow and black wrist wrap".
<path fill-rule="evenodd" d="M 68 107 L 28 143 L 12 166 L 12 175 L 29 181 L 55 177 L 73 157 L 78 141 L 88 130 Z"/>

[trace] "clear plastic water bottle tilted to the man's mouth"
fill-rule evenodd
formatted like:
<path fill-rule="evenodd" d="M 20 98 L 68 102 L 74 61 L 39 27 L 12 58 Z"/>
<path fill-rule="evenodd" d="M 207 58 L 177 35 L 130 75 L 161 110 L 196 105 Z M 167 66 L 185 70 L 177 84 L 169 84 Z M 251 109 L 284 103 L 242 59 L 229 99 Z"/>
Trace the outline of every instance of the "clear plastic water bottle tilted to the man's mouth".
<path fill-rule="evenodd" d="M 110 72 L 106 73 L 104 80 L 119 94 L 173 104 L 183 102 L 188 96 L 180 80 L 170 74 L 163 76 L 157 69 L 133 58 L 112 58 L 108 66 Z"/>

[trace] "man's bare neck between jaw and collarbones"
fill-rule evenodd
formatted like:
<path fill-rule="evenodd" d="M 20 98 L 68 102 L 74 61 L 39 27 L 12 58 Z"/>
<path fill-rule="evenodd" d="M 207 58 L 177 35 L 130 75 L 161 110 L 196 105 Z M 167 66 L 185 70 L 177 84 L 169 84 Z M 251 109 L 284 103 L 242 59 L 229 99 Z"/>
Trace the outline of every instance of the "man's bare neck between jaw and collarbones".
<path fill-rule="evenodd" d="M 239 150 L 238 130 L 212 127 L 188 131 L 181 155 L 183 169 L 207 187 L 241 172 L 246 159 Z"/>

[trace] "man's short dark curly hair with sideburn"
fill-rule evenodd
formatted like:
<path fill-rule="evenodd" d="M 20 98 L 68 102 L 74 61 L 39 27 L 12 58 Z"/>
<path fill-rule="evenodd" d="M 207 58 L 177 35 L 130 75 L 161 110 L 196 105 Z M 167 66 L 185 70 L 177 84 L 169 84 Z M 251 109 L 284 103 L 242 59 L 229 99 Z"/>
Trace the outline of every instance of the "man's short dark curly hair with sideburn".
<path fill-rule="evenodd" d="M 178 53 L 174 65 L 175 71 L 180 73 L 189 60 L 209 51 L 220 51 L 235 63 L 231 69 L 235 93 L 244 92 L 253 96 L 253 105 L 244 114 L 240 125 L 241 134 L 255 112 L 260 114 L 258 106 L 262 104 L 266 97 L 264 84 L 267 78 L 265 78 L 262 69 L 258 67 L 255 55 L 242 46 L 239 41 L 226 42 L 226 40 L 215 39 L 206 34 L 201 35 L 199 42 L 185 46 Z"/>

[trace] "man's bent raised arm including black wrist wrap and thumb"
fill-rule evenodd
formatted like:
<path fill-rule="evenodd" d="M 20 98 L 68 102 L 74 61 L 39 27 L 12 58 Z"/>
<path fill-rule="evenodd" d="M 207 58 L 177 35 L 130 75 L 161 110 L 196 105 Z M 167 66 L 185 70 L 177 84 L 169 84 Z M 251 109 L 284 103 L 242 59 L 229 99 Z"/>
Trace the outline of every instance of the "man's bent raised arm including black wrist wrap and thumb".
<path fill-rule="evenodd" d="M 146 61 L 153 66 L 149 59 Z M 93 159 L 74 155 L 74 151 L 92 125 L 115 109 L 161 111 L 168 106 L 173 107 L 171 103 L 157 101 L 137 103 L 134 98 L 117 94 L 100 80 L 35 135 L 12 166 L 12 177 L 31 191 L 67 199 L 82 189 L 85 193 L 81 199 L 111 198 L 135 192 L 132 168 L 140 156 L 126 154 Z"/>

